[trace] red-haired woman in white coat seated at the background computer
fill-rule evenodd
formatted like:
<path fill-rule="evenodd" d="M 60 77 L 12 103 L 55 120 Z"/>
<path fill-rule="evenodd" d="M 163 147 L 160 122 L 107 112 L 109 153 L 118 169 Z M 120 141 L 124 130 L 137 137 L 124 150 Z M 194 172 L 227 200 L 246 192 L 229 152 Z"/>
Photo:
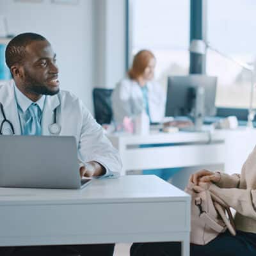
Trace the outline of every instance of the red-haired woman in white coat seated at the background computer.
<path fill-rule="evenodd" d="M 116 85 L 112 95 L 113 116 L 122 123 L 125 116 L 134 118 L 145 110 L 150 122 L 162 122 L 165 95 L 154 81 L 156 58 L 152 52 L 142 50 L 134 56 L 128 76 Z"/>

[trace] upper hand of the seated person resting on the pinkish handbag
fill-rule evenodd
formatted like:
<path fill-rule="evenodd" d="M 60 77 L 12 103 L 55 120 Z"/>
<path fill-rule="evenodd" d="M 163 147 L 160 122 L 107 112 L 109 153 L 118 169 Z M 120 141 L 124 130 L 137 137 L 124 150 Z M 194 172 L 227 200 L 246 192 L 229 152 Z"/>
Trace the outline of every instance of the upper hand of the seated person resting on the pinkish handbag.
<path fill-rule="evenodd" d="M 219 182 L 221 175 L 219 172 L 211 172 L 209 170 L 200 170 L 189 177 L 189 181 L 198 185 L 199 182 Z"/>

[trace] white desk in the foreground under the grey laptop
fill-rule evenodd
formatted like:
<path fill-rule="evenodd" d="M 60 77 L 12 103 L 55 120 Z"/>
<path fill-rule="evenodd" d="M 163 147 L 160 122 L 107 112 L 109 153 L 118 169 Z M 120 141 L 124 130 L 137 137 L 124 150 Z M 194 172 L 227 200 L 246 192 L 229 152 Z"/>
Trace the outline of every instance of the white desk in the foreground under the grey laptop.
<path fill-rule="evenodd" d="M 190 196 L 154 175 L 93 180 L 83 190 L 0 188 L 0 246 L 182 241 Z"/>

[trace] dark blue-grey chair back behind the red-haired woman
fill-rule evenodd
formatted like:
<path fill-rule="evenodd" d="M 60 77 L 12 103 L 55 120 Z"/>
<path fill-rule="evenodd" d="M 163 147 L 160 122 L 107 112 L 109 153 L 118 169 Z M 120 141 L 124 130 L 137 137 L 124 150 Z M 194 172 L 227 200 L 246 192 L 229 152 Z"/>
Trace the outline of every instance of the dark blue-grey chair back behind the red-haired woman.
<path fill-rule="evenodd" d="M 113 89 L 94 88 L 93 106 L 95 119 L 99 124 L 110 124 L 113 116 L 111 94 Z"/>

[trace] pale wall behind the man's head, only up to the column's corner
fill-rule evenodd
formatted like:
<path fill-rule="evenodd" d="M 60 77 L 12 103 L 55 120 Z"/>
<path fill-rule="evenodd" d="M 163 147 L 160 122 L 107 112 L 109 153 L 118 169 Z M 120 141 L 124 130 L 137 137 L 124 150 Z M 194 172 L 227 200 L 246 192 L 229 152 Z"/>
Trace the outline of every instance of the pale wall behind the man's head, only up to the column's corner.
<path fill-rule="evenodd" d="M 92 0 L 77 5 L 0 0 L 9 32 L 44 35 L 57 54 L 61 89 L 79 96 L 92 110 Z"/>

